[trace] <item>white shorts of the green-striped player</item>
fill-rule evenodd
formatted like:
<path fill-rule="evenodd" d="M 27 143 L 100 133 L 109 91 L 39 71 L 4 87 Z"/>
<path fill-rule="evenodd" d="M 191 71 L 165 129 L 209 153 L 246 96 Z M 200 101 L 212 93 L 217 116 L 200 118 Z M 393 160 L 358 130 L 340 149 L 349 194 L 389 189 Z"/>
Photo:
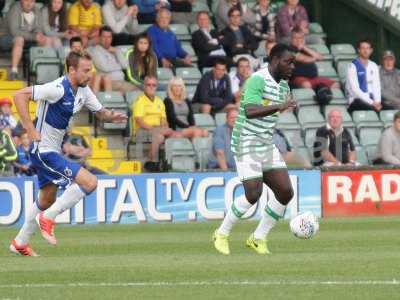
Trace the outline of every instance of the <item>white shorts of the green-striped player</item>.
<path fill-rule="evenodd" d="M 249 153 L 239 157 L 235 156 L 235 162 L 241 181 L 262 178 L 263 172 L 271 169 L 286 168 L 286 163 L 275 145 L 272 151 L 267 153 Z"/>

